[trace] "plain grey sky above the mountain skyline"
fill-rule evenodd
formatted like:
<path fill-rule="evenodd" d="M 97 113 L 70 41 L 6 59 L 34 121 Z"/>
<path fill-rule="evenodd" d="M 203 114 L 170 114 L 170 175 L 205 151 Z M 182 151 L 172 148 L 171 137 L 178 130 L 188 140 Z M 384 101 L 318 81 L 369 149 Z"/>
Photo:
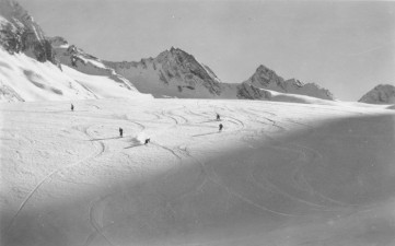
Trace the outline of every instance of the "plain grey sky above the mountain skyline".
<path fill-rule="evenodd" d="M 395 1 L 18 0 L 48 36 L 104 60 L 176 47 L 223 82 L 259 65 L 357 101 L 395 85 Z"/>

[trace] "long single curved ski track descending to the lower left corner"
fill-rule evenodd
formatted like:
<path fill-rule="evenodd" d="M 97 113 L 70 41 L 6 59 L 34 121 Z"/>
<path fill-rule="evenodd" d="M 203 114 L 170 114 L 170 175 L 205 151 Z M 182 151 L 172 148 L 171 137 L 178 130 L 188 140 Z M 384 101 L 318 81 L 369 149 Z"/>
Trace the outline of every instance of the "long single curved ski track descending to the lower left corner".
<path fill-rule="evenodd" d="M 45 177 L 34 187 L 34 189 L 27 195 L 27 197 L 23 200 L 23 202 L 21 203 L 21 206 L 20 206 L 20 208 L 18 209 L 16 213 L 12 216 L 10 223 L 8 224 L 8 226 L 7 226 L 7 232 L 10 232 L 10 230 L 11 230 L 11 227 L 12 227 L 15 219 L 16 219 L 18 215 L 21 213 L 22 209 L 26 206 L 27 201 L 33 197 L 33 195 L 39 189 L 39 187 L 40 187 L 46 180 L 48 180 L 49 178 L 51 178 L 53 176 L 55 176 L 56 174 L 58 174 L 58 173 L 61 172 L 62 169 L 73 167 L 73 166 L 79 165 L 79 164 L 81 164 L 81 163 L 83 163 L 83 162 L 85 162 L 85 161 L 88 161 L 88 160 L 90 160 L 90 159 L 94 159 L 94 157 L 101 155 L 101 154 L 104 152 L 105 148 L 104 148 L 104 144 L 103 144 L 102 142 L 100 142 L 100 144 L 101 144 L 101 150 L 97 151 L 97 153 L 90 154 L 90 155 L 88 155 L 86 157 L 84 157 L 84 159 L 82 159 L 82 160 L 80 160 L 80 161 L 78 161 L 78 162 L 75 162 L 75 163 L 72 163 L 72 164 L 70 164 L 70 165 L 68 165 L 68 166 L 63 166 L 63 167 L 57 168 L 57 169 L 53 171 L 50 174 L 48 174 L 47 176 L 45 176 Z"/>

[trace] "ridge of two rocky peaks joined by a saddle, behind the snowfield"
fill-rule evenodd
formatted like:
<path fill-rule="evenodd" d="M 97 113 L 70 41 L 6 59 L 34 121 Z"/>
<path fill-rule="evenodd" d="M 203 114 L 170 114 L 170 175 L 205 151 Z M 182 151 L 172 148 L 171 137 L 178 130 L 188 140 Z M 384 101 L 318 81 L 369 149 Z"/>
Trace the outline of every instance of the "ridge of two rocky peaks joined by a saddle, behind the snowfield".
<path fill-rule="evenodd" d="M 303 84 L 295 79 L 286 81 L 264 66 L 259 66 L 243 83 L 223 83 L 208 66 L 173 47 L 155 58 L 141 59 L 139 62 L 104 63 L 130 80 L 140 92 L 151 93 L 156 97 L 269 99 L 259 90 L 265 89 L 334 99 L 328 90 L 314 83 Z"/>

